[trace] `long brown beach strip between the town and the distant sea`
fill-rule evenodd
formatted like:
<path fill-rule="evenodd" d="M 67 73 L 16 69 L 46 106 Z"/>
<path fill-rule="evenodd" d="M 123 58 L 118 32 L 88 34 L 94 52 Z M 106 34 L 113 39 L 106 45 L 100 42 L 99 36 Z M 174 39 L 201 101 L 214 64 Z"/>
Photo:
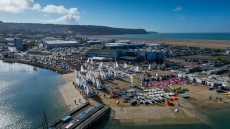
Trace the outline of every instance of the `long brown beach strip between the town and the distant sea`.
<path fill-rule="evenodd" d="M 95 38 L 112 38 L 117 40 L 130 41 L 146 41 L 146 42 L 163 42 L 169 45 L 189 46 L 189 47 L 204 47 L 204 48 L 219 48 L 225 49 L 230 46 L 229 40 L 196 40 L 196 39 L 160 39 L 160 38 L 131 38 L 131 37 L 103 37 L 91 36 Z"/>

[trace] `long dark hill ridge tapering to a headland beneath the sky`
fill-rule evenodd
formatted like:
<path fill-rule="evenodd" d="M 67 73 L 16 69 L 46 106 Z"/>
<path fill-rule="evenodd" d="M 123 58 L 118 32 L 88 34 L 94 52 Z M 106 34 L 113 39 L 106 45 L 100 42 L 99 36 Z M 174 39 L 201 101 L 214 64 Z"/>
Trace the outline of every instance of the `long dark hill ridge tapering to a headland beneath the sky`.
<path fill-rule="evenodd" d="M 0 33 L 65 33 L 73 31 L 82 35 L 121 35 L 147 34 L 144 29 L 113 28 L 94 25 L 60 25 L 39 23 L 4 23 L 0 22 Z"/>

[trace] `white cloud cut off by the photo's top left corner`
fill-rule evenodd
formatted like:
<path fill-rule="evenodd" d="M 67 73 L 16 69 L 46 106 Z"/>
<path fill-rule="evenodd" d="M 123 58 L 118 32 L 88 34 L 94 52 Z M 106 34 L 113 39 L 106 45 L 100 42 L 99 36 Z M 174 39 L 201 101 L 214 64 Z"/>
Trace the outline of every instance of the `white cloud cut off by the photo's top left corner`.
<path fill-rule="evenodd" d="M 34 0 L 0 0 L 0 11 L 20 13 L 33 7 Z"/>

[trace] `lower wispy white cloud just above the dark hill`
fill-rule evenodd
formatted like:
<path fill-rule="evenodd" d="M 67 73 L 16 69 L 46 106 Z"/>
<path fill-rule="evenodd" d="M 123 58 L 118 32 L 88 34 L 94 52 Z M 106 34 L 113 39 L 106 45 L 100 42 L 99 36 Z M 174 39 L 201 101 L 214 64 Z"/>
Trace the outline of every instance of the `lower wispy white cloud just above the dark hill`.
<path fill-rule="evenodd" d="M 57 19 L 50 19 L 50 20 L 44 20 L 44 21 L 48 23 L 57 23 L 57 24 L 65 23 L 69 25 L 76 25 L 78 24 L 79 19 L 80 19 L 80 16 L 78 15 L 65 15 Z"/>

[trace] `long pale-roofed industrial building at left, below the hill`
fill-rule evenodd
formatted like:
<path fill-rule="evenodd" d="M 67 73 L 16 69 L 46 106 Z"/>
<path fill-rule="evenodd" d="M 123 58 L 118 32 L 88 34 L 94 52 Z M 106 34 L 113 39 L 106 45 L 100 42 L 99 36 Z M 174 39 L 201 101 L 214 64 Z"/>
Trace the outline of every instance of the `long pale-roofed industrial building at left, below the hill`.
<path fill-rule="evenodd" d="M 77 41 L 64 41 L 64 40 L 47 40 L 43 41 L 46 49 L 57 48 L 57 47 L 77 47 Z"/>

